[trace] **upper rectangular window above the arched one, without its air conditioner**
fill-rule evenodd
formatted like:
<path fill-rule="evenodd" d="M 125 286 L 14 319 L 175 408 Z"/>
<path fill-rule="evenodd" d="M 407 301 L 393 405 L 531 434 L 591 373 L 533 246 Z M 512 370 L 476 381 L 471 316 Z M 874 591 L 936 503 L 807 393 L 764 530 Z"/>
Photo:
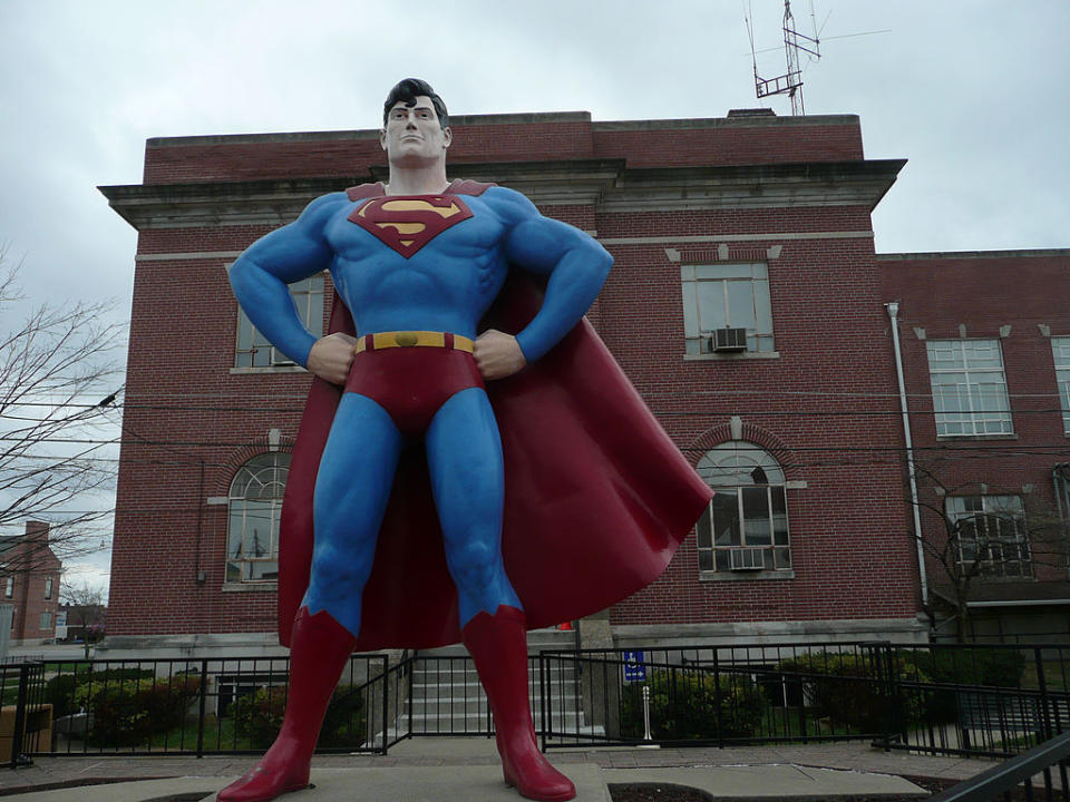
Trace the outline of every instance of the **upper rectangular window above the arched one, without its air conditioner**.
<path fill-rule="evenodd" d="M 763 263 L 682 265 L 687 353 L 710 353 L 718 329 L 746 329 L 748 351 L 772 351 L 769 268 Z"/>

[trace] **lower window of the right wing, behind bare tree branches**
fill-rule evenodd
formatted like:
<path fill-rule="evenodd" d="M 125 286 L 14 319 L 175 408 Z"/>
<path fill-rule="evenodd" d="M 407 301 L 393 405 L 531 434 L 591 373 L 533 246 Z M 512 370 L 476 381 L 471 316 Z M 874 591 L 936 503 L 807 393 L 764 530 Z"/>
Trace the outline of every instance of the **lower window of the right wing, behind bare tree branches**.
<path fill-rule="evenodd" d="M 949 496 L 947 518 L 957 531 L 961 568 L 989 577 L 1032 576 L 1020 496 Z"/>

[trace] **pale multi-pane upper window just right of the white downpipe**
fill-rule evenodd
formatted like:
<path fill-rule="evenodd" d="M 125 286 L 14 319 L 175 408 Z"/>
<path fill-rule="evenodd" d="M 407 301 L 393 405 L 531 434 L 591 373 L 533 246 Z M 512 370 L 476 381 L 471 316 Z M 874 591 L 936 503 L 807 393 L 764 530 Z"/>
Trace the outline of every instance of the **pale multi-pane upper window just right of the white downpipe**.
<path fill-rule="evenodd" d="M 1011 434 L 999 340 L 931 340 L 928 376 L 936 434 Z"/>

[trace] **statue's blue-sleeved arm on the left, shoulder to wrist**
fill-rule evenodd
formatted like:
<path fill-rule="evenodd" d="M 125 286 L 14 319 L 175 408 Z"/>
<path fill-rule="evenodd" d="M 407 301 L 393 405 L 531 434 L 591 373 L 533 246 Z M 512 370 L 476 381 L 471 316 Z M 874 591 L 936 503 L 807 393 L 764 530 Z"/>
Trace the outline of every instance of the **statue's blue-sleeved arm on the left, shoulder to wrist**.
<path fill-rule="evenodd" d="M 342 193 L 317 198 L 298 219 L 254 242 L 231 265 L 231 286 L 253 325 L 305 368 L 317 339 L 301 322 L 286 285 L 330 266 L 334 254 L 323 228 L 344 200 Z"/>

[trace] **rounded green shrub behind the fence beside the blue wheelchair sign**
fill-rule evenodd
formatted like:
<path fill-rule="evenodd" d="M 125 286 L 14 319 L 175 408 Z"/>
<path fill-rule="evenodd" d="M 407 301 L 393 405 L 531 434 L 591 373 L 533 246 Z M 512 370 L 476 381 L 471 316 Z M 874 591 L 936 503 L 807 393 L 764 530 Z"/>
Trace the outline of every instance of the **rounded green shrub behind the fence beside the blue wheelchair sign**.
<path fill-rule="evenodd" d="M 621 734 L 625 737 L 643 737 L 644 686 L 650 688 L 650 731 L 655 740 L 749 737 L 761 725 L 765 700 L 750 677 L 654 669 L 645 683 L 624 686 Z"/>

